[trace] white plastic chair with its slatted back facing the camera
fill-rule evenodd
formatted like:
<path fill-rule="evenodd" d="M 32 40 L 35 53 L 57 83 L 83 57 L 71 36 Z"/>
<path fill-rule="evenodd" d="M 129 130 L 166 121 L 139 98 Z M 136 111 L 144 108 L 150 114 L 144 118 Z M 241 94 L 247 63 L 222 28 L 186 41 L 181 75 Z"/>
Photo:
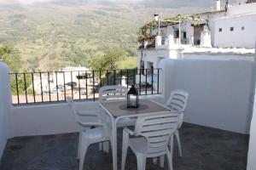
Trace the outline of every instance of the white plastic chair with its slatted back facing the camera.
<path fill-rule="evenodd" d="M 125 170 L 128 147 L 137 156 L 137 169 L 144 170 L 146 159 L 167 156 L 169 170 L 172 170 L 173 133 L 177 130 L 178 114 L 170 111 L 150 116 L 139 116 L 135 130 L 125 128 L 123 131 L 123 149 L 121 170 Z"/>

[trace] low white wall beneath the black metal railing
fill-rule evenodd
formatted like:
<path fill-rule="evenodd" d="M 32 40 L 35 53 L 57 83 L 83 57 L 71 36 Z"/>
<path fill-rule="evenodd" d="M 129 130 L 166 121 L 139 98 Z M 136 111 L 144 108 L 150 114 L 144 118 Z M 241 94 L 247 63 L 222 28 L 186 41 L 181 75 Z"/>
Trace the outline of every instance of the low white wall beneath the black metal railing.
<path fill-rule="evenodd" d="M 79 110 L 97 111 L 96 102 L 77 102 Z M 24 105 L 13 108 L 14 136 L 78 132 L 72 110 L 67 103 Z M 91 122 L 96 120 L 84 120 Z"/>

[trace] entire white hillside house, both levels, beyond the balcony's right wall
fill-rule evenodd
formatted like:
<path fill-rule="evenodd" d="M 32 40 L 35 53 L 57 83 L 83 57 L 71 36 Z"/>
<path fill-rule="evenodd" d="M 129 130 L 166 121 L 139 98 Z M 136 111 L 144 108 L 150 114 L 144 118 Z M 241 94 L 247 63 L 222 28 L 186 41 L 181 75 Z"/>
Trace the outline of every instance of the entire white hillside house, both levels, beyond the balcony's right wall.
<path fill-rule="evenodd" d="M 138 49 L 137 67 L 159 68 L 160 61 L 166 58 L 221 60 L 254 58 L 256 3 L 226 5 L 226 9 L 221 10 L 220 2 L 216 1 L 215 11 L 196 16 L 199 16 L 199 20 L 189 20 L 180 25 L 177 21 L 160 21 L 160 36 L 155 38 L 155 42 L 149 43 L 150 45 Z M 155 34 L 157 30 L 153 33 Z M 147 77 L 151 80 L 150 75 Z M 139 80 L 137 76 L 137 83 L 144 83 L 145 80 L 145 77 L 140 77 Z"/>

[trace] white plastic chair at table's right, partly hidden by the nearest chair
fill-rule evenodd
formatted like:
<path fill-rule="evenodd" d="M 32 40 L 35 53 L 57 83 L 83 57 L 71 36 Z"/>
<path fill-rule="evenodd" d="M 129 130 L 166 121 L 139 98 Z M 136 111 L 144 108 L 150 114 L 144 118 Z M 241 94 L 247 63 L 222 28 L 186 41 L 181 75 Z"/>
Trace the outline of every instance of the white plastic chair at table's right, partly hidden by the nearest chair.
<path fill-rule="evenodd" d="M 177 139 L 177 147 L 179 156 L 182 156 L 181 143 L 179 138 L 178 129 L 182 127 L 183 124 L 183 113 L 186 110 L 189 99 L 189 93 L 183 90 L 174 90 L 171 93 L 170 98 L 167 100 L 166 105 L 171 109 L 171 111 L 180 111 L 179 112 L 179 121 L 177 131 L 175 132 L 175 137 Z"/>

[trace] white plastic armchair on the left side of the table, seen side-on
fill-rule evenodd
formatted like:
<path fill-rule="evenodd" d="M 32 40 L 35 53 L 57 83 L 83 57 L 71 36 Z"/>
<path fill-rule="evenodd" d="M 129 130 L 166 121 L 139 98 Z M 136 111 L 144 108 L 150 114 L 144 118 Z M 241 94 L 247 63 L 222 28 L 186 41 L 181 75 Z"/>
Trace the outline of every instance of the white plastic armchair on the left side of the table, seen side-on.
<path fill-rule="evenodd" d="M 102 123 L 102 117 L 96 111 L 78 111 L 73 103 L 73 99 L 67 96 L 67 104 L 72 108 L 75 120 L 79 125 L 79 170 L 83 169 L 84 157 L 90 144 L 102 143 L 109 141 L 108 127 Z M 82 122 L 80 116 L 96 117 L 98 122 Z M 91 128 L 90 127 L 94 127 Z M 108 145 L 104 150 L 108 152 Z"/>

